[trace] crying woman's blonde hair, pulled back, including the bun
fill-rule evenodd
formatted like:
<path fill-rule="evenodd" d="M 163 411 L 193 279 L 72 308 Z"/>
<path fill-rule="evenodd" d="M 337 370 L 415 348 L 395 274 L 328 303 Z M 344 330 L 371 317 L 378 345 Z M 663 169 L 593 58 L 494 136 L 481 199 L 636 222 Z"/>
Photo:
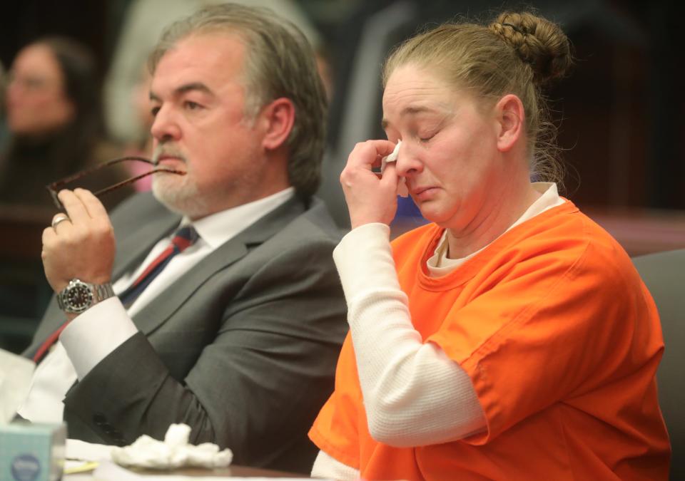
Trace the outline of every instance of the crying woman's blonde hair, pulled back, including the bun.
<path fill-rule="evenodd" d="M 530 170 L 539 180 L 561 182 L 556 128 L 542 87 L 572 64 L 570 43 L 557 25 L 530 13 L 504 12 L 488 24 L 448 23 L 400 44 L 383 68 L 383 87 L 399 66 L 430 68 L 454 88 L 486 105 L 517 95 L 526 114 Z"/>

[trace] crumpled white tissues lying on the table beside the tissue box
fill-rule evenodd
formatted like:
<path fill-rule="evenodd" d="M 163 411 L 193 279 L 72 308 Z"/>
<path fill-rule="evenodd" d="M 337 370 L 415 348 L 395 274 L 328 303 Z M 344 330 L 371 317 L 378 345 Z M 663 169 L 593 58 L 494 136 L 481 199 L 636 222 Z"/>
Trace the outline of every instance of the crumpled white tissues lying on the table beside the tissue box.
<path fill-rule="evenodd" d="M 158 441 L 142 435 L 130 446 L 112 449 L 112 460 L 122 466 L 173 469 L 176 467 L 226 467 L 233 460 L 230 449 L 223 451 L 213 443 L 188 444 L 191 428 L 186 424 L 172 424 Z"/>

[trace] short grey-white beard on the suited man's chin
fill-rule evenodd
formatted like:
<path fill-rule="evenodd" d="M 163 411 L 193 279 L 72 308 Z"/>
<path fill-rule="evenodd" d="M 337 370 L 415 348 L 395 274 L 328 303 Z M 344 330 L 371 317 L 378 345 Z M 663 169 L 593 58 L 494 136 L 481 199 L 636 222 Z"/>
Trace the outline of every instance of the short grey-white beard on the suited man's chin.
<path fill-rule="evenodd" d="M 195 182 L 175 174 L 158 172 L 152 177 L 152 193 L 171 212 L 186 215 L 191 219 L 203 217 L 208 212 L 205 199 Z"/>

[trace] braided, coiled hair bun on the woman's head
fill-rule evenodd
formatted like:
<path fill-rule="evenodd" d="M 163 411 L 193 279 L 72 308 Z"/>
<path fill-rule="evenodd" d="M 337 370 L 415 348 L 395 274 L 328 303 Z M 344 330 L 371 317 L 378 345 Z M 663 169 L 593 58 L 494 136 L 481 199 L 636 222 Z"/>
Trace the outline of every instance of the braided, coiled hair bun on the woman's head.
<path fill-rule="evenodd" d="M 504 12 L 489 29 L 509 43 L 543 84 L 564 76 L 573 63 L 571 45 L 561 27 L 529 13 Z"/>

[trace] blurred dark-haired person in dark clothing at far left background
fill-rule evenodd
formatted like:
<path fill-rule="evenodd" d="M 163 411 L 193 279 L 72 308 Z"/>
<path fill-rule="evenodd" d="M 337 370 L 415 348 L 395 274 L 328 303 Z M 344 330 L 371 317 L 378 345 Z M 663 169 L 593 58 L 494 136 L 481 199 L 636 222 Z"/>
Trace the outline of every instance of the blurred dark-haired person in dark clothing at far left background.
<path fill-rule="evenodd" d="M 0 212 L 11 242 L 0 256 L 0 346 L 21 351 L 51 294 L 40 244 L 34 245 L 54 212 L 46 185 L 121 152 L 106 140 L 93 56 L 71 39 L 41 38 L 21 48 L 2 99 Z M 121 165 L 115 166 L 83 185 L 98 190 L 125 176 Z M 131 191 L 125 188 L 103 202 L 113 207 Z"/>

